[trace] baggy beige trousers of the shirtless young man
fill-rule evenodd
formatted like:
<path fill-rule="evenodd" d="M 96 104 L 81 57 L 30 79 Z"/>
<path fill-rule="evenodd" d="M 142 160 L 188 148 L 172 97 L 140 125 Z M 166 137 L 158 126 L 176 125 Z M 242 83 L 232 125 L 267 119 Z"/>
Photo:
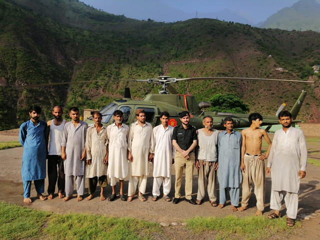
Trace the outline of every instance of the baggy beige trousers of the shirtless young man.
<path fill-rule="evenodd" d="M 241 206 L 248 205 L 248 200 L 251 196 L 252 183 L 254 184 L 254 194 L 256 197 L 256 207 L 258 210 L 264 209 L 264 160 L 259 160 L 258 156 L 244 154 L 243 162 L 245 172 L 242 172 L 242 200 Z"/>

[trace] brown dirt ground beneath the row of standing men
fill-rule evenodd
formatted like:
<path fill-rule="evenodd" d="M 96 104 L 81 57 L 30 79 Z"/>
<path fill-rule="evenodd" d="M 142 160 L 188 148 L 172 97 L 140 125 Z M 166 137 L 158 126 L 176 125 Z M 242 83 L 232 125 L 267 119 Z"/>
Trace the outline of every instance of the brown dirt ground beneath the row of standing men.
<path fill-rule="evenodd" d="M 269 134 L 272 139 L 273 134 Z M 306 137 L 307 139 L 307 148 L 308 155 L 314 159 L 320 160 L 320 139 L 314 137 Z M 17 130 L 0 132 L 0 141 L 9 141 L 9 140 L 18 140 Z M 263 147 L 262 149 L 266 149 Z M 21 179 L 21 158 L 22 158 L 22 147 L 10 148 L 5 150 L 0 150 L 0 200 L 5 200 L 10 203 L 23 204 L 23 187 Z M 150 172 L 152 173 L 152 164 L 150 163 Z M 300 181 L 300 193 L 299 193 L 299 208 L 298 214 L 302 213 L 312 213 L 315 210 L 320 209 L 320 167 L 317 167 L 313 164 L 308 164 L 306 167 L 306 176 Z M 172 183 L 171 183 L 171 193 L 170 196 L 174 195 L 174 165 L 172 167 Z M 45 179 L 45 191 L 47 188 L 47 179 Z M 182 180 L 181 201 L 174 205 L 172 202 L 166 202 L 163 199 L 159 199 L 156 202 L 151 200 L 151 191 L 152 191 L 152 182 L 153 177 L 150 176 L 147 179 L 146 187 L 146 196 L 147 201 L 141 202 L 137 198 L 134 198 L 132 202 L 123 202 L 120 199 L 116 199 L 113 202 L 99 201 L 98 193 L 100 191 L 99 187 L 96 190 L 96 196 L 90 201 L 85 199 L 77 202 L 76 198 L 73 197 L 67 202 L 63 202 L 58 197 L 54 197 L 52 200 L 41 201 L 32 196 L 36 195 L 34 186 L 31 188 L 31 198 L 33 203 L 28 204 L 27 206 L 35 209 L 49 210 L 58 213 L 66 212 L 86 212 L 93 214 L 103 214 L 107 216 L 129 216 L 137 217 L 147 221 L 154 222 L 183 222 L 185 219 L 194 217 L 194 216 L 226 216 L 229 214 L 235 216 L 248 216 L 253 215 L 256 211 L 255 206 L 255 196 L 251 195 L 249 200 L 249 208 L 244 212 L 232 212 L 230 210 L 229 199 L 227 201 L 227 206 L 223 209 L 218 207 L 212 207 L 208 202 L 208 197 L 204 198 L 204 202 L 201 205 L 191 205 L 190 203 L 184 201 L 184 180 Z M 271 188 L 271 179 L 270 176 L 266 176 L 266 192 L 265 192 L 265 212 L 264 215 L 267 215 L 270 212 L 269 201 L 270 201 L 270 188 Z M 87 184 L 86 184 L 87 185 Z M 118 185 L 116 186 L 118 189 Z M 127 191 L 128 181 L 125 179 L 124 182 L 124 191 Z M 162 190 L 162 187 L 161 187 Z M 197 193 L 197 172 L 196 169 L 193 172 L 193 198 L 195 199 Z M 75 194 L 75 191 L 74 191 Z M 111 187 L 107 186 L 105 194 L 108 197 L 111 194 Z M 86 193 L 84 197 L 86 197 Z M 240 193 L 241 195 L 241 193 Z M 284 208 L 284 204 L 283 204 Z M 281 210 L 281 215 L 285 215 L 285 210 Z M 303 229 L 297 233 L 295 238 L 297 239 L 306 239 L 306 237 L 312 237 L 312 239 L 320 239 L 320 215 L 317 217 L 304 220 L 302 222 Z M 185 233 L 189 231 L 181 230 L 183 227 L 170 226 L 165 232 L 166 235 L 170 238 L 185 238 Z M 171 230 L 170 230 L 171 229 Z M 184 232 L 184 233 L 183 233 Z M 183 234 L 182 234 L 183 233 Z M 187 233 L 191 238 L 193 233 Z M 210 238 L 205 235 L 202 238 Z M 211 236 L 212 238 L 212 236 Z"/>

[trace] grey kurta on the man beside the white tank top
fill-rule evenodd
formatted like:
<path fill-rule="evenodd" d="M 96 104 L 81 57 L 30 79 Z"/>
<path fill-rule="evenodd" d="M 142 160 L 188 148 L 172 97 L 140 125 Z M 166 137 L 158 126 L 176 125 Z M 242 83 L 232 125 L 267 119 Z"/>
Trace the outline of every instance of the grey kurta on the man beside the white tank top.
<path fill-rule="evenodd" d="M 85 146 L 87 127 L 88 124 L 84 121 L 80 121 L 76 128 L 72 121 L 64 125 L 61 146 L 65 146 L 64 172 L 66 176 L 84 174 L 84 160 L 80 159 Z"/>

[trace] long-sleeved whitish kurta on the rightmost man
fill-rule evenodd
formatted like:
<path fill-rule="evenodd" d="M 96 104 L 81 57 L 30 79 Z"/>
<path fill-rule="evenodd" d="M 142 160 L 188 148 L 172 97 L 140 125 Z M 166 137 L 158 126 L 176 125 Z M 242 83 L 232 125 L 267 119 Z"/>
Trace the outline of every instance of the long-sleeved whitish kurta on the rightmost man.
<path fill-rule="evenodd" d="M 301 159 L 299 160 L 301 156 Z M 302 130 L 289 127 L 274 133 L 267 167 L 271 167 L 272 190 L 298 193 L 299 170 L 305 171 L 307 149 Z"/>

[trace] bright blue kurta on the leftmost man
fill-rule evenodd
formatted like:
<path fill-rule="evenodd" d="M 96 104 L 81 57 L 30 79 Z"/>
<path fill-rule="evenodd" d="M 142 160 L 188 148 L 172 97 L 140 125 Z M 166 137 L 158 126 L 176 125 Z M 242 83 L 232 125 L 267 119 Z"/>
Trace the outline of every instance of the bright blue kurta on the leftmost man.
<path fill-rule="evenodd" d="M 23 181 L 45 178 L 46 129 L 46 122 L 41 120 L 36 125 L 31 119 L 20 125 L 19 141 L 23 146 L 21 167 Z"/>

